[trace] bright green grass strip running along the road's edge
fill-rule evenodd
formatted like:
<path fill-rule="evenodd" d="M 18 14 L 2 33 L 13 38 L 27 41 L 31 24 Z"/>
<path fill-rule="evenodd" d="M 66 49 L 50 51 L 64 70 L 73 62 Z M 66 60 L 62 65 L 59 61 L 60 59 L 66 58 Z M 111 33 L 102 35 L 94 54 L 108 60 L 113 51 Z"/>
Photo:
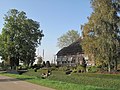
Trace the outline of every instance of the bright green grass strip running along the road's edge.
<path fill-rule="evenodd" d="M 27 76 L 27 75 L 18 75 L 18 74 L 2 74 L 2 75 L 6 75 L 20 80 L 25 80 L 31 83 L 54 88 L 56 90 L 110 90 L 107 88 L 105 89 L 91 85 L 79 85 L 75 83 L 67 83 L 57 80 L 41 79 L 41 78 L 37 78 L 36 76 Z"/>

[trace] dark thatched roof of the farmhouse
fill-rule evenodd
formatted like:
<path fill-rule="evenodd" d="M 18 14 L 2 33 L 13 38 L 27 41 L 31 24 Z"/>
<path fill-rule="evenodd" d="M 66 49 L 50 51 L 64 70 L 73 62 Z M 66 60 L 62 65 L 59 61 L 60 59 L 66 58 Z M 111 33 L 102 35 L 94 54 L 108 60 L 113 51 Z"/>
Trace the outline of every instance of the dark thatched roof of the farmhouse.
<path fill-rule="evenodd" d="M 80 43 L 81 39 L 78 39 L 76 42 L 72 43 L 68 47 L 62 48 L 60 51 L 58 51 L 57 56 L 75 55 L 77 53 L 83 53 Z"/>

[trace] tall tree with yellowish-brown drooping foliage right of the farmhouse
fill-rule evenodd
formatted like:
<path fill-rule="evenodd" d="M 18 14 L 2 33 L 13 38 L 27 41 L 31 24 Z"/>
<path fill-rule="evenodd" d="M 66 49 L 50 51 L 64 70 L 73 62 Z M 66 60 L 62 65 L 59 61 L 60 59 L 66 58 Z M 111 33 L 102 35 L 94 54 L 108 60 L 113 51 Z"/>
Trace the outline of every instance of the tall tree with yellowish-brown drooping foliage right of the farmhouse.
<path fill-rule="evenodd" d="M 119 16 L 112 0 L 92 0 L 91 3 L 94 11 L 83 27 L 82 47 L 96 64 L 106 63 L 111 72 L 112 65 L 117 69 L 120 57 L 117 53 L 120 46 Z"/>

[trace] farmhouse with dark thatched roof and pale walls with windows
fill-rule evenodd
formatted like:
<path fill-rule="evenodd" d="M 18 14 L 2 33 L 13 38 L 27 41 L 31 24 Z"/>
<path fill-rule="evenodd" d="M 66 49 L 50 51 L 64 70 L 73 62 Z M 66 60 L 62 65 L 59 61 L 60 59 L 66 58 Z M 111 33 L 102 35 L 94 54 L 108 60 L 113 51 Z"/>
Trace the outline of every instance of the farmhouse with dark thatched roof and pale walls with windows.
<path fill-rule="evenodd" d="M 81 65 L 85 60 L 87 65 L 94 65 L 93 61 L 88 60 L 80 45 L 82 39 L 78 39 L 68 47 L 62 48 L 57 53 L 57 65 L 60 66 L 76 66 Z"/>

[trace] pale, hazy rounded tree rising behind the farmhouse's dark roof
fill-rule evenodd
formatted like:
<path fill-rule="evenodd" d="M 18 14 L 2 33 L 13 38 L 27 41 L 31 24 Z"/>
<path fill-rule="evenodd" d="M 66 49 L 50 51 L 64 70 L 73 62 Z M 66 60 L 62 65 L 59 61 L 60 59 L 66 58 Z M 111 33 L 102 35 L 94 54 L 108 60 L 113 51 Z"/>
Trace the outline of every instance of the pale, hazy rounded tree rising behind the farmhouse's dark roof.
<path fill-rule="evenodd" d="M 67 47 L 80 38 L 78 31 L 69 30 L 66 34 L 58 38 L 58 47 Z"/>

